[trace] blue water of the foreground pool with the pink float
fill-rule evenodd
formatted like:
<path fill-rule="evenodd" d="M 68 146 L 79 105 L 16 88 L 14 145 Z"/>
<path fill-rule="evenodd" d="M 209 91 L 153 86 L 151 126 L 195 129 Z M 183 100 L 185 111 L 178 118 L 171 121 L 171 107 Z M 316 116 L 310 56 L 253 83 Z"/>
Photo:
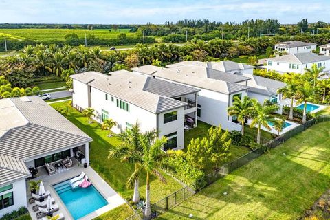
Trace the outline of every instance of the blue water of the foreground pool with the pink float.
<path fill-rule="evenodd" d="M 93 185 L 72 190 L 69 181 L 64 181 L 54 185 L 54 188 L 75 220 L 108 204 Z"/>

